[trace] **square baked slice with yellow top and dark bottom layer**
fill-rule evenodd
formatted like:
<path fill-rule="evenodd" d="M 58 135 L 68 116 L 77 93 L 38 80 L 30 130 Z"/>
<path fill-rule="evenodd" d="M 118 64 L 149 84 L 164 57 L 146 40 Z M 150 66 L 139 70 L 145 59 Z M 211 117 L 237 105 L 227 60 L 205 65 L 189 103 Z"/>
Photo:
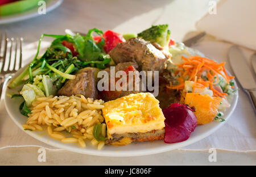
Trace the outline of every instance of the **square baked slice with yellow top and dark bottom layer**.
<path fill-rule="evenodd" d="M 104 103 L 106 144 L 127 145 L 133 141 L 164 138 L 164 115 L 159 101 L 150 93 L 123 96 Z"/>

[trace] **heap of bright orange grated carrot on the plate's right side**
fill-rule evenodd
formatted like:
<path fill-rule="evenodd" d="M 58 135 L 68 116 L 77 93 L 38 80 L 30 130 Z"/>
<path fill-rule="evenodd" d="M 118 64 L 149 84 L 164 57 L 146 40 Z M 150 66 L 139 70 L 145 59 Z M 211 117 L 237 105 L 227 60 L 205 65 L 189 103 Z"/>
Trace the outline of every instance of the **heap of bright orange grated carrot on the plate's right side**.
<path fill-rule="evenodd" d="M 170 86 L 167 86 L 167 88 L 183 90 L 185 86 L 184 77 L 188 75 L 189 78 L 187 81 L 194 81 L 193 91 L 195 88 L 209 87 L 209 89 L 213 91 L 213 96 L 220 96 L 225 98 L 225 96 L 228 95 L 213 88 L 213 85 L 218 83 L 218 74 L 220 74 L 227 83 L 229 83 L 231 79 L 234 79 L 233 76 L 230 76 L 226 73 L 226 69 L 224 68 L 226 62 L 218 64 L 213 60 L 200 56 L 190 56 L 188 58 L 181 56 L 181 58 L 185 62 L 183 62 L 183 64 L 177 64 L 178 69 L 175 73 L 176 75 L 178 73 L 181 74 L 180 77 L 177 78 L 179 85 L 172 85 L 170 82 Z M 207 72 L 207 79 L 201 77 L 203 71 Z M 216 80 L 214 78 L 216 78 Z"/>

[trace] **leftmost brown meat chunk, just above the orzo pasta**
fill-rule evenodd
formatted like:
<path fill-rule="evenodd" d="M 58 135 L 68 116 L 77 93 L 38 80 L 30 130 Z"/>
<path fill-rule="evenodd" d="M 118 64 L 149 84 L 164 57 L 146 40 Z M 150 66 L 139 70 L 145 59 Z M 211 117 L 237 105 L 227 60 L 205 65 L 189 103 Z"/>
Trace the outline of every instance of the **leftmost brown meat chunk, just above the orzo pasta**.
<path fill-rule="evenodd" d="M 96 80 L 94 78 L 95 70 L 89 68 L 82 73 L 76 74 L 75 79 L 68 80 L 63 87 L 57 92 L 57 95 L 84 95 L 85 98 L 97 99 Z"/>

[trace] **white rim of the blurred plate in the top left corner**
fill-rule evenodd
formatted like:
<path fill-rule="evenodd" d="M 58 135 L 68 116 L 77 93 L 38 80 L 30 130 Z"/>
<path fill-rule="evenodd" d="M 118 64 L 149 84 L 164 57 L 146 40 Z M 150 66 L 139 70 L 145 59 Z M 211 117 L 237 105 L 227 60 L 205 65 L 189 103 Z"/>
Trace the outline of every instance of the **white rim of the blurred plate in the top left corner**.
<path fill-rule="evenodd" d="M 56 9 L 56 7 L 60 6 L 62 2 L 63 0 L 46 0 L 46 14 L 47 12 L 52 11 Z M 39 16 L 40 14 L 38 14 L 38 7 L 39 6 L 17 14 L 1 16 L 0 24 L 18 22 L 21 20 L 26 20 L 35 16 Z"/>

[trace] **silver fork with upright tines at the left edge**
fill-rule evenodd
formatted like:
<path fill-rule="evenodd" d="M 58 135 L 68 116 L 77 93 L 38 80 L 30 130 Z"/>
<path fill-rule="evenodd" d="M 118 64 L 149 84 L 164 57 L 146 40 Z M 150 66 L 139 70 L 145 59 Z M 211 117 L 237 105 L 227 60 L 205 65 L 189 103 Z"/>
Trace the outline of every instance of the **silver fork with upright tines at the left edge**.
<path fill-rule="evenodd" d="M 8 38 L 6 32 L 3 37 L 3 56 L 0 56 L 2 60 L 2 67 L 0 69 L 0 99 L 2 95 L 3 87 L 5 83 L 7 83 L 11 77 L 13 77 L 14 73 L 18 71 L 22 67 L 22 41 L 23 38 L 14 39 L 13 37 Z M 10 43 L 10 48 L 8 44 Z M 19 57 L 18 57 L 18 45 L 19 45 Z M 0 32 L 0 52 L 2 49 L 2 32 Z M 7 52 L 9 52 L 9 57 L 6 57 Z M 13 66 L 11 66 L 11 58 L 14 54 L 14 62 Z M 16 66 L 18 64 L 18 67 Z M 7 69 L 5 69 L 7 66 Z"/>

